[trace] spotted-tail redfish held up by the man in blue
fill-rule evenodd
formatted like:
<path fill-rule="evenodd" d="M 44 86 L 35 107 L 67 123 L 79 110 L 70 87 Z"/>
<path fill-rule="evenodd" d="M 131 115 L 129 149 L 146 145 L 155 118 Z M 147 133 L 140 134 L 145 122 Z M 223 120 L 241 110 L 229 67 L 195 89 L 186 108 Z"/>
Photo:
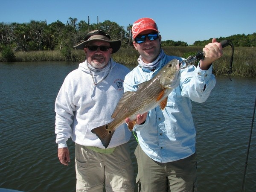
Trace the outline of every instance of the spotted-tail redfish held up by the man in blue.
<path fill-rule="evenodd" d="M 107 148 L 111 138 L 120 125 L 129 118 L 128 128 L 133 130 L 137 115 L 146 113 L 158 105 L 163 110 L 167 104 L 168 95 L 180 83 L 180 61 L 173 59 L 165 64 L 161 70 L 150 80 L 137 85 L 137 91 L 126 91 L 116 105 L 111 115 L 111 122 L 106 125 L 93 128 L 96 134 Z"/>

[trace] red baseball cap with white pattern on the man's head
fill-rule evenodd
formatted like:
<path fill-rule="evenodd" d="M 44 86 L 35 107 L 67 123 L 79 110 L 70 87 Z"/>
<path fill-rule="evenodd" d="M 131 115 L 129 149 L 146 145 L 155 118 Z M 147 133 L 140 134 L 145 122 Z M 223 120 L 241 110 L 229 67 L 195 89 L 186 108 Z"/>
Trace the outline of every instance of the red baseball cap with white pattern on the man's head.
<path fill-rule="evenodd" d="M 154 30 L 159 33 L 157 23 L 153 19 L 145 17 L 135 21 L 132 25 L 132 37 L 135 39 L 137 35 L 145 30 Z"/>

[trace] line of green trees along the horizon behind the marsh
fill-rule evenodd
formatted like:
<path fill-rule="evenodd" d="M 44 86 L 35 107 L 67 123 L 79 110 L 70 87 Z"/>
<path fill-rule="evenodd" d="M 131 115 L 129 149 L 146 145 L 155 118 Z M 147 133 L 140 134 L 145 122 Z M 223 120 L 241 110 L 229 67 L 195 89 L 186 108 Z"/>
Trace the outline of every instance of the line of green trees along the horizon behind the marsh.
<path fill-rule="evenodd" d="M 31 20 L 29 23 L 0 23 L 0 52 L 5 47 L 12 51 L 56 50 L 70 52 L 73 46 L 80 43 L 84 36 L 92 30 L 100 29 L 111 35 L 112 40 L 121 39 L 122 47 L 132 44 L 131 25 L 119 26 L 116 22 L 105 20 L 102 23 L 89 23 L 85 20 L 78 22 L 70 17 L 67 23 L 57 20 L 47 25 L 45 21 Z M 218 41 L 229 39 L 235 47 L 255 47 L 256 33 L 248 35 L 232 35 L 220 37 Z M 204 46 L 211 41 L 195 41 L 193 46 Z M 188 44 L 183 41 L 162 41 L 162 46 L 181 46 Z"/>

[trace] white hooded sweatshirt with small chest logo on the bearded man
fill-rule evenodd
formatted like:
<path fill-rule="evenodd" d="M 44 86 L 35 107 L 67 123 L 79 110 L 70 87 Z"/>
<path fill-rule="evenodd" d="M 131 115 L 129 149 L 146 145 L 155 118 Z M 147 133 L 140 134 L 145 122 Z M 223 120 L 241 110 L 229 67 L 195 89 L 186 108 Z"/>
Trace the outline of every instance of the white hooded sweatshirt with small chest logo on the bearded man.
<path fill-rule="evenodd" d="M 111 115 L 124 92 L 125 75 L 130 72 L 112 59 L 108 66 L 91 74 L 84 61 L 65 78 L 55 101 L 58 148 L 67 147 L 70 137 L 80 145 L 105 148 L 91 130 L 113 120 Z M 130 138 L 124 123 L 116 129 L 108 148 L 127 143 Z"/>

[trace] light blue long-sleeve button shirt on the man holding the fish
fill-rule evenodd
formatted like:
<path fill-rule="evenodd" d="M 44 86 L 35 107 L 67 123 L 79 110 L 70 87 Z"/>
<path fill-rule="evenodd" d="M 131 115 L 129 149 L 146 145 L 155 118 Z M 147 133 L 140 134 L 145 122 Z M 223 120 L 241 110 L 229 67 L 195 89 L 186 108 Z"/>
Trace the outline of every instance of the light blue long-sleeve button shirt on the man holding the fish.
<path fill-rule="evenodd" d="M 139 64 L 125 76 L 124 90 L 136 91 L 138 84 L 150 80 L 174 58 L 183 60 L 165 55 L 154 72 L 143 69 Z M 169 94 L 166 108 L 163 111 L 159 106 L 152 109 L 145 123 L 134 126 L 143 151 L 161 163 L 180 160 L 195 153 L 196 130 L 191 100 L 205 102 L 216 82 L 212 66 L 209 70 L 201 70 L 199 65 L 192 65 L 180 70 L 180 73 L 180 84 Z"/>

